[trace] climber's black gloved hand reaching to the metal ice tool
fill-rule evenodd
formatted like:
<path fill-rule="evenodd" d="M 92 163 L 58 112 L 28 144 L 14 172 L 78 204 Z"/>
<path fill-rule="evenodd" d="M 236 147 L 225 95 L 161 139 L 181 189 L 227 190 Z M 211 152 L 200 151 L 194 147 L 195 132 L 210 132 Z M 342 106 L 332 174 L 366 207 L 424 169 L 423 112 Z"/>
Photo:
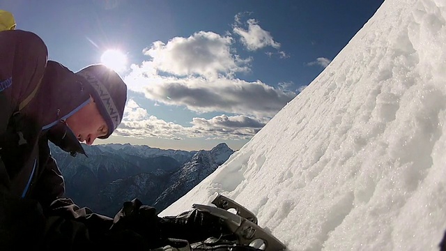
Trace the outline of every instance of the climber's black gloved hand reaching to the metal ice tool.
<path fill-rule="evenodd" d="M 110 228 L 114 248 L 147 250 L 169 244 L 169 238 L 186 240 L 189 243 L 207 238 L 232 236 L 224 220 L 208 212 L 194 209 L 176 216 L 160 218 L 155 208 L 144 206 L 139 199 L 126 201 L 114 217 Z M 232 236 L 235 238 L 235 236 Z M 126 244 L 124 244 L 126 243 Z M 129 247 L 130 244 L 132 247 Z"/>

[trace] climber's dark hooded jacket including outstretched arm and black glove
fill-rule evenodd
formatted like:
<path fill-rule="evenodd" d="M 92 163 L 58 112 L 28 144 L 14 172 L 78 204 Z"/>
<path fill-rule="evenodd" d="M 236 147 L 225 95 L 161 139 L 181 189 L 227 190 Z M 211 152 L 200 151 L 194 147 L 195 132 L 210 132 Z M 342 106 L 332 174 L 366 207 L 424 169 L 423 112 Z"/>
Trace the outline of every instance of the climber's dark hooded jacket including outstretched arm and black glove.
<path fill-rule="evenodd" d="M 159 218 L 133 199 L 112 219 L 64 197 L 48 140 L 59 142 L 60 121 L 88 102 L 85 81 L 47 61 L 36 34 L 0 32 L 0 250 L 147 250 L 167 238 L 219 237 L 220 218 L 196 210 Z"/>

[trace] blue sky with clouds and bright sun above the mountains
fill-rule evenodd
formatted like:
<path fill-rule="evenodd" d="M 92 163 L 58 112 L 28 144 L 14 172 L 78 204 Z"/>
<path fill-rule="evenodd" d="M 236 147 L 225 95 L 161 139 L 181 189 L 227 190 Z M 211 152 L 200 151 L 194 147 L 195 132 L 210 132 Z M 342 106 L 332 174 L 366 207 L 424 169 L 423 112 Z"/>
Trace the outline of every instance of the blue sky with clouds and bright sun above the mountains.
<path fill-rule="evenodd" d="M 98 144 L 238 150 L 330 63 L 373 1 L 2 1 L 49 59 L 125 55 L 123 123 Z M 114 62 L 116 63 L 116 62 Z"/>

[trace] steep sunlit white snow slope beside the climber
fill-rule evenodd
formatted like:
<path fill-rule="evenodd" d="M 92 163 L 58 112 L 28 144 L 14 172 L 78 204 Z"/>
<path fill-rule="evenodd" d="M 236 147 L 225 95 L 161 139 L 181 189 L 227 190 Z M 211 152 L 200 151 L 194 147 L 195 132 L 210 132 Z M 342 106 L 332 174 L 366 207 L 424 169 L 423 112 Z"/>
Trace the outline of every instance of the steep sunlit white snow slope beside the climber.
<path fill-rule="evenodd" d="M 216 192 L 289 250 L 438 250 L 446 229 L 446 1 L 386 0 L 224 165 Z"/>

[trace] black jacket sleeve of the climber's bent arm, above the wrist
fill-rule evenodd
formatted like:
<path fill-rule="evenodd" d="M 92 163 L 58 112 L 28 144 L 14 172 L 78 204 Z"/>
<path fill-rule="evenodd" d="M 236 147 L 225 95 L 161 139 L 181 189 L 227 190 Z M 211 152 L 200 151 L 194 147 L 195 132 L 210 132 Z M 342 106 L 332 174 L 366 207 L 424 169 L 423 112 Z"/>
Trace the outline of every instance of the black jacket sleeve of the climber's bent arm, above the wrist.
<path fill-rule="evenodd" d="M 45 160 L 31 193 L 39 201 L 45 215 L 45 232 L 41 238 L 45 250 L 61 248 L 75 250 L 104 245 L 113 219 L 80 208 L 72 199 L 65 197 L 65 183 L 56 160 L 52 158 L 46 137 L 39 141 L 39 158 Z"/>

